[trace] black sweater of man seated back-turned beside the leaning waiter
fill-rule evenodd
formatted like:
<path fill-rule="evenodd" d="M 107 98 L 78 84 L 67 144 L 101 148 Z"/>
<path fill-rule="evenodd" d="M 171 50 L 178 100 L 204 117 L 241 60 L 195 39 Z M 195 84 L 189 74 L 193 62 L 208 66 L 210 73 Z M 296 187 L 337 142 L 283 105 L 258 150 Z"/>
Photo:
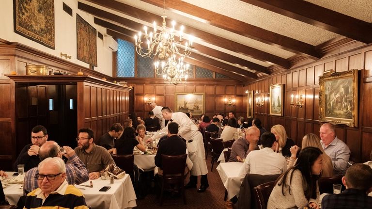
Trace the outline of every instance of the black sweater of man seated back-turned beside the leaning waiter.
<path fill-rule="evenodd" d="M 178 136 L 171 136 L 161 141 L 155 156 L 155 165 L 162 168 L 161 155 L 186 154 L 186 143 Z"/>

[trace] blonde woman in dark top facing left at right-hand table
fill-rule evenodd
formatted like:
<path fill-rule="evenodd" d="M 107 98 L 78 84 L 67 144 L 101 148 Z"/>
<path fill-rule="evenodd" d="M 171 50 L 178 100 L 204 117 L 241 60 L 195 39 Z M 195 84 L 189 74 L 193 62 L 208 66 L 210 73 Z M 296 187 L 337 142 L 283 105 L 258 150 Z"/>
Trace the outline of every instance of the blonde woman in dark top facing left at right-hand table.
<path fill-rule="evenodd" d="M 271 132 L 275 135 L 279 147 L 277 146 L 276 152 L 280 152 L 283 156 L 291 156 L 291 148 L 294 144 L 294 141 L 287 136 L 287 132 L 284 127 L 280 124 L 271 127 Z"/>

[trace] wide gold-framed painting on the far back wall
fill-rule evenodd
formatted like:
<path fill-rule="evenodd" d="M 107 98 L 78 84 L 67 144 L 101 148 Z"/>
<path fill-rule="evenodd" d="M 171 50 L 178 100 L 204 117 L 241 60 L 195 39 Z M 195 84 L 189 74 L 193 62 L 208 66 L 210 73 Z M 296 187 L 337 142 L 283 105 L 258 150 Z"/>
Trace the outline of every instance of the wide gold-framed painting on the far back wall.
<path fill-rule="evenodd" d="M 174 112 L 202 114 L 204 113 L 204 102 L 204 94 L 176 93 Z"/>

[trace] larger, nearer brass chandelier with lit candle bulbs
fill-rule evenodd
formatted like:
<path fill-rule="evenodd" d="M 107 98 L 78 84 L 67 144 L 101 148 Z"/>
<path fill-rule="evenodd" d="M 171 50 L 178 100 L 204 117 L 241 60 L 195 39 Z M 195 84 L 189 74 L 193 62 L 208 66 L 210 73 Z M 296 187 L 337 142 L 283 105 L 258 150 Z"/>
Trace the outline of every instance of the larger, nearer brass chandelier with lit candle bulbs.
<path fill-rule="evenodd" d="M 139 32 L 134 36 L 136 52 L 142 57 L 155 58 L 158 57 L 161 61 L 168 60 L 173 54 L 177 54 L 181 57 L 186 57 L 191 54 L 193 37 L 189 37 L 189 42 L 186 42 L 183 46 L 183 30 L 182 25 L 179 31 L 179 39 L 175 40 L 175 25 L 176 22 L 172 21 L 172 28 L 167 30 L 165 18 L 165 9 L 163 12 L 163 23 L 162 29 L 157 32 L 156 22 L 154 21 L 154 31 L 148 33 L 147 26 L 143 27 L 144 33 Z M 143 41 L 142 41 L 143 39 Z M 147 48 L 143 48 L 141 44 L 145 44 Z"/>

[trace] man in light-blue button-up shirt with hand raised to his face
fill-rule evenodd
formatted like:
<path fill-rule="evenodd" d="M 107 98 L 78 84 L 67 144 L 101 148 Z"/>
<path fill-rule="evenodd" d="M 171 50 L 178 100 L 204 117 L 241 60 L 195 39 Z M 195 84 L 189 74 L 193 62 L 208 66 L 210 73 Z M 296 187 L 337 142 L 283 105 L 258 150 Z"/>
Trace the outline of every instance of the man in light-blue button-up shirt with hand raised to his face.
<path fill-rule="evenodd" d="M 336 136 L 336 126 L 325 123 L 320 127 L 320 144 L 333 164 L 334 176 L 345 174 L 347 162 L 350 158 L 349 147 Z"/>

